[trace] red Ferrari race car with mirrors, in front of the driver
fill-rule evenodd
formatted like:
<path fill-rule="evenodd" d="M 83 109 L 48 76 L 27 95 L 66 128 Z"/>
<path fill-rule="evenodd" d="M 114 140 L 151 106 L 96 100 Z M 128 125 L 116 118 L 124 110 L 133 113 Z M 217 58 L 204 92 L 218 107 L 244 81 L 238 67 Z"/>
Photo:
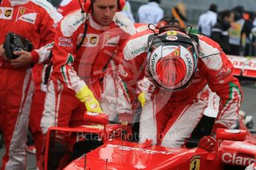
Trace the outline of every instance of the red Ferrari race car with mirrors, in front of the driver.
<path fill-rule="evenodd" d="M 85 113 L 85 118 L 102 126 L 49 129 L 45 169 L 56 169 L 54 167 L 72 159 L 64 169 L 245 169 L 256 162 L 256 137 L 246 128 L 243 116 L 240 116 L 239 129 L 217 129 L 218 142 L 213 153 L 194 146 L 200 137 L 207 135 L 206 131 L 211 129 L 209 122 L 214 122 L 214 118 L 203 118 L 205 122 L 200 123 L 195 129 L 197 132 L 192 134 L 187 146 L 182 149 L 130 141 L 130 127 L 108 124 L 105 114 L 89 112 Z M 57 136 L 64 133 L 65 143 L 68 143 L 65 149 L 56 144 Z M 64 154 L 67 153 L 70 155 L 65 159 Z M 61 157 L 60 163 L 56 163 Z"/>

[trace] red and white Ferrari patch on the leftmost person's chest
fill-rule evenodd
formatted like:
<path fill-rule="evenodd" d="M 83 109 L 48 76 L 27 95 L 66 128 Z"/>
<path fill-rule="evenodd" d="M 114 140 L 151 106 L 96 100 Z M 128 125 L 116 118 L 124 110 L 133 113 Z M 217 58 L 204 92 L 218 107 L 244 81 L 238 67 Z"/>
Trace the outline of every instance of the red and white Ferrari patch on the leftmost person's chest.
<path fill-rule="evenodd" d="M 22 21 L 29 22 L 31 24 L 35 24 L 36 16 L 37 16 L 37 13 L 35 13 L 35 11 L 29 10 L 24 7 L 19 7 L 19 13 L 17 15 L 16 21 L 22 20 Z"/>

